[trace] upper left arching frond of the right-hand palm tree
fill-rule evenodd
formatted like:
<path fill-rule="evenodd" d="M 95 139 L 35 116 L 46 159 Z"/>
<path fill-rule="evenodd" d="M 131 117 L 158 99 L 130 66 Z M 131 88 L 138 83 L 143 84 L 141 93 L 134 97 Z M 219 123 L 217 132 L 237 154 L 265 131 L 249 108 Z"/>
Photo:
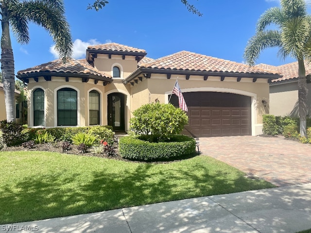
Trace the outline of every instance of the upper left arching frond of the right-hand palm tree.
<path fill-rule="evenodd" d="M 285 20 L 285 16 L 282 10 L 278 7 L 273 7 L 265 11 L 257 22 L 256 32 L 261 32 L 266 29 L 267 26 L 275 24 L 280 27 Z"/>

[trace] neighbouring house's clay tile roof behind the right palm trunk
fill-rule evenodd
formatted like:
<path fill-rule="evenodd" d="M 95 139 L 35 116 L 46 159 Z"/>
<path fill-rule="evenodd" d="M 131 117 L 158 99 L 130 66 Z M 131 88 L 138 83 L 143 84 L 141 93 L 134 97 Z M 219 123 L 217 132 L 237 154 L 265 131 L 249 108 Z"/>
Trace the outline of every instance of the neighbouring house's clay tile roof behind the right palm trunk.
<path fill-rule="evenodd" d="M 306 75 L 311 74 L 311 64 L 305 62 Z M 283 75 L 282 78 L 272 80 L 272 83 L 286 81 L 298 78 L 298 62 L 292 62 L 289 64 L 275 67 L 275 70 Z"/>

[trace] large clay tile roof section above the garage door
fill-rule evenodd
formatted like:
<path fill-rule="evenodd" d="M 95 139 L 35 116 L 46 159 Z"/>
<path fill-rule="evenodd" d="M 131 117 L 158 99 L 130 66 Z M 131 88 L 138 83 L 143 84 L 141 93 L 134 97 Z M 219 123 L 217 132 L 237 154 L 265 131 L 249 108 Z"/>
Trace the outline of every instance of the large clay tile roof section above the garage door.
<path fill-rule="evenodd" d="M 156 59 L 154 62 L 141 63 L 139 67 L 209 72 L 277 74 L 275 70 L 249 67 L 242 63 L 231 62 L 189 51 L 180 51 Z"/>

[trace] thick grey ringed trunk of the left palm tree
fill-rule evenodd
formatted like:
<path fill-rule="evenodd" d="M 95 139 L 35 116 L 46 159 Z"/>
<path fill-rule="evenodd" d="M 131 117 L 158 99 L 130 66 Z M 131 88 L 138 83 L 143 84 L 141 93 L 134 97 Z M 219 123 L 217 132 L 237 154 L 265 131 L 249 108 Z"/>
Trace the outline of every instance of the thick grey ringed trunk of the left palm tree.
<path fill-rule="evenodd" d="M 8 10 L 2 3 L 2 35 L 1 35 L 1 70 L 5 99 L 6 119 L 16 120 L 15 110 L 15 75 L 14 56 L 10 38 L 10 28 L 8 20 Z"/>

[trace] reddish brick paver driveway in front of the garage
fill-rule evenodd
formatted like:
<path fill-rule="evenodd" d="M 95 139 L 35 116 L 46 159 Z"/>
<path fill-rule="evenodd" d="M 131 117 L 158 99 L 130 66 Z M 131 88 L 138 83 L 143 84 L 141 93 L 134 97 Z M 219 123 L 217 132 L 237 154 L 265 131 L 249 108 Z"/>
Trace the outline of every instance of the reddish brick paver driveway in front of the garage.
<path fill-rule="evenodd" d="M 200 152 L 277 186 L 311 183 L 311 145 L 283 136 L 199 138 Z"/>

